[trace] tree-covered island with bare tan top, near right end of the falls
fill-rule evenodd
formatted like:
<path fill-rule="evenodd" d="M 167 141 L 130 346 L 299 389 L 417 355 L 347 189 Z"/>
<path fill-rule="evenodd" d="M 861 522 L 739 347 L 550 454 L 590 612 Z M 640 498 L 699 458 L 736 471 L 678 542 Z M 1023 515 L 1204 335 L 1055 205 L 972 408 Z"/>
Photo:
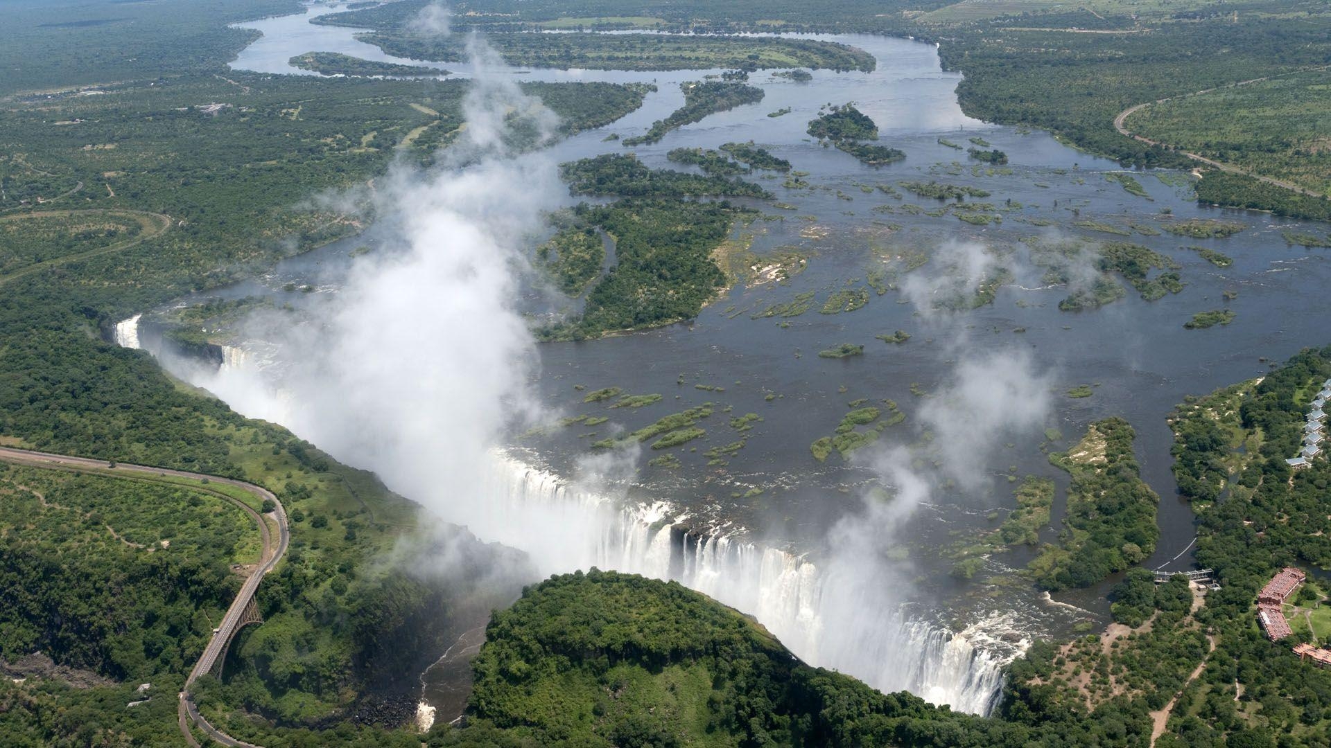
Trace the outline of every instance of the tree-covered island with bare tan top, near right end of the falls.
<path fill-rule="evenodd" d="M 1041 587 L 1089 587 L 1155 551 L 1159 496 L 1138 475 L 1135 437 L 1126 421 L 1106 418 L 1069 451 L 1049 455 L 1071 484 L 1058 544 L 1041 547 L 1029 566 Z"/>

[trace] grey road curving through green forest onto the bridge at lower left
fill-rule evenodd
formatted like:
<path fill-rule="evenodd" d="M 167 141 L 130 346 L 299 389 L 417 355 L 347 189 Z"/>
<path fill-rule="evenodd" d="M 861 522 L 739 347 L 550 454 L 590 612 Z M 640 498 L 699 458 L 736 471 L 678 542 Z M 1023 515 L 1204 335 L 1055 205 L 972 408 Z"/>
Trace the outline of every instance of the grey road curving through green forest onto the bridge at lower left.
<path fill-rule="evenodd" d="M 260 502 L 270 500 L 273 502 L 273 519 L 277 522 L 277 542 L 273 542 L 273 531 L 269 523 L 264 520 L 260 512 L 254 511 L 253 507 L 245 502 L 229 496 L 221 491 L 212 491 L 202 486 L 190 486 L 193 490 L 204 491 L 212 494 L 221 499 L 226 499 L 233 504 L 238 506 L 250 515 L 250 519 L 260 528 L 260 534 L 264 536 L 264 550 L 260 555 L 258 568 L 254 570 L 245 583 L 241 586 L 240 594 L 232 602 L 232 606 L 226 608 L 226 614 L 222 616 L 221 624 L 218 624 L 216 634 L 209 639 L 208 646 L 204 647 L 204 654 L 194 663 L 194 668 L 189 671 L 189 677 L 185 679 L 185 685 L 180 692 L 180 708 L 177 709 L 180 715 L 180 728 L 185 733 L 185 740 L 190 745 L 197 747 L 198 743 L 194 740 L 193 733 L 189 729 L 189 723 L 194 723 L 201 731 L 208 733 L 213 740 L 221 743 L 222 745 L 232 745 L 233 748 L 258 748 L 250 743 L 244 743 L 236 740 L 234 737 L 216 729 L 213 725 L 208 724 L 208 720 L 198 713 L 194 708 L 194 701 L 189 697 L 189 687 L 217 663 L 217 657 L 225 651 L 228 642 L 230 642 L 232 635 L 241 626 L 242 614 L 245 607 L 250 604 L 254 599 L 254 592 L 258 590 L 260 582 L 264 580 L 264 575 L 273 571 L 277 562 L 282 560 L 282 555 L 286 554 L 286 546 L 290 542 L 290 530 L 286 522 L 286 510 L 282 507 L 282 502 L 277 500 L 277 496 L 272 491 L 264 488 L 262 486 L 256 486 L 253 483 L 245 483 L 244 480 L 234 480 L 232 478 L 220 478 L 217 475 L 204 475 L 201 472 L 185 472 L 182 470 L 168 470 L 165 467 L 146 467 L 142 465 L 124 465 L 114 463 L 110 466 L 102 459 L 88 459 L 81 457 L 68 457 L 47 453 L 35 453 L 28 450 L 16 450 L 12 447 L 0 447 L 0 461 L 24 465 L 29 467 L 45 467 L 56 470 L 68 470 L 72 472 L 89 472 L 96 475 L 105 475 L 109 478 L 125 478 L 130 480 L 150 480 L 150 482 L 164 482 L 161 478 L 186 478 L 190 480 L 208 480 L 212 483 L 221 483 L 226 486 L 234 486 L 242 491 L 248 491 Z M 165 480 L 165 483 L 180 484 L 172 480 Z"/>

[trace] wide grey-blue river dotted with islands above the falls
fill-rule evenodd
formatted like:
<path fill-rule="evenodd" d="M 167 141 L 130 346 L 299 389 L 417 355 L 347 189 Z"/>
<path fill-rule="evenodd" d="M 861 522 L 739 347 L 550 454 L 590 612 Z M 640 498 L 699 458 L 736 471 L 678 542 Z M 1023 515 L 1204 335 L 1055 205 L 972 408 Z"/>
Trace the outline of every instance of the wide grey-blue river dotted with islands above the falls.
<path fill-rule="evenodd" d="M 417 64 L 357 41 L 355 29 L 309 23 L 331 8 L 317 7 L 301 15 L 244 24 L 264 36 L 233 67 L 298 75 L 303 72 L 290 68 L 287 59 L 314 51 Z M 764 89 L 761 102 L 708 116 L 671 132 L 655 145 L 631 149 L 648 165 L 671 166 L 666 152 L 672 148 L 716 148 L 728 141 L 753 140 L 789 160 L 796 170 L 808 172 L 803 177 L 807 186 L 783 186 L 781 178 L 760 181 L 776 194 L 775 202 L 792 209 L 755 204 L 779 220 L 756 221 L 737 230 L 737 236 L 752 234 L 752 252 L 757 256 L 777 248 L 799 252 L 808 260 L 807 269 L 788 283 L 737 286 L 689 325 L 595 342 L 543 345 L 535 389 L 544 405 L 568 414 L 602 414 L 603 406 L 583 403 L 586 391 L 598 387 L 664 394 L 664 402 L 640 414 L 604 411 L 631 429 L 704 402 L 716 403 L 717 410 L 729 406 L 731 413 L 717 413 L 703 423 L 709 433 L 707 441 L 672 451 L 680 467 L 650 467 L 647 461 L 659 453 L 643 450 L 630 495 L 644 502 L 669 502 L 676 516 L 687 514 L 693 527 L 759 538 L 768 546 L 808 554 L 812 559 L 835 551 L 827 547 L 828 528 L 848 512 L 860 511 L 865 491 L 881 486 L 890 492 L 901 486 L 890 484 L 872 459 L 847 465 L 833 454 L 820 463 L 811 454 L 811 442 L 832 434 L 849 402 L 892 399 L 906 421 L 886 429 L 880 445 L 913 445 L 916 467 L 918 455 L 928 455 L 924 462 L 932 465 L 924 470 L 942 476 L 918 508 L 900 519 L 892 539 L 893 558 L 901 559 L 913 582 L 912 592 L 905 596 L 917 606 L 912 615 L 950 631 L 993 622 L 990 638 L 1008 642 L 1065 634 L 1077 622 L 1102 622 L 1107 584 L 1059 595 L 1059 600 L 1081 608 L 1077 611 L 1044 602 L 1029 584 L 1013 576 L 1013 570 L 1029 560 L 1029 551 L 989 558 L 973 579 L 961 580 L 948 574 L 952 560 L 940 548 L 957 543 L 968 532 L 996 527 L 1005 510 L 1014 506 L 1009 476 L 1024 475 L 1057 482 L 1054 518 L 1042 532 L 1046 540 L 1057 539 L 1067 478 L 1050 466 L 1046 451 L 1066 449 L 1090 422 L 1118 415 L 1137 429 L 1142 475 L 1161 495 L 1161 539 L 1145 566 L 1189 568 L 1193 516 L 1177 498 L 1170 474 L 1171 433 L 1166 417 L 1185 395 L 1260 375 L 1267 359 L 1280 361 L 1302 346 L 1326 341 L 1331 295 L 1324 289 L 1331 282 L 1331 264 L 1324 253 L 1291 246 L 1282 237 L 1283 230 L 1324 233 L 1324 226 L 1199 206 L 1190 193 L 1187 174 L 1177 172 L 1134 173 L 1149 197 L 1134 196 L 1106 178 L 1121 172 L 1113 161 L 1067 148 L 1044 132 L 989 125 L 962 114 L 954 94 L 961 76 L 940 69 L 937 51 L 930 44 L 878 36 L 813 39 L 865 49 L 877 59 L 877 69 L 815 71 L 809 83 L 757 72 L 751 75 L 749 84 Z M 467 65 L 454 63 L 442 67 L 462 76 L 470 72 Z M 555 157 L 567 161 L 630 150 L 618 141 L 607 141 L 607 136 L 644 132 L 683 102 L 679 83 L 719 72 L 511 69 L 504 75 L 524 81 L 658 85 L 640 109 L 620 121 L 555 144 Z M 847 101 L 869 114 L 878 125 L 881 142 L 904 150 L 906 158 L 889 166 L 865 166 L 845 153 L 820 146 L 805 133 L 821 106 Z M 768 116 L 787 108 L 789 113 Z M 969 148 L 970 138 L 1004 150 L 1008 166 L 978 168 L 968 161 L 965 150 L 941 142 Z M 900 186 L 916 180 L 988 190 L 990 197 L 973 200 L 994 204 L 990 213 L 1001 213 L 1002 220 L 972 225 L 952 214 L 930 216 L 941 202 L 916 197 Z M 877 189 L 878 185 L 894 186 L 900 196 Z M 572 202 L 570 198 L 568 204 Z M 912 204 L 922 210 L 910 208 Z M 1189 218 L 1238 221 L 1246 229 L 1221 240 L 1193 240 L 1161 230 L 1166 224 Z M 1097 230 L 1105 226 L 1119 233 Z M 1185 287 L 1158 301 L 1145 301 L 1129 287 L 1126 298 L 1099 310 L 1061 311 L 1058 302 L 1067 289 L 1049 287 L 1041 281 L 1044 269 L 1032 262 L 1029 248 L 1033 241 L 1063 240 L 1146 245 L 1179 265 Z M 329 303 L 327 297 L 335 293 L 302 295 L 282 289 L 289 283 L 310 283 L 335 291 L 345 282 L 353 250 L 373 241 L 371 229 L 365 237 L 293 258 L 261 278 L 210 295 L 257 294 L 295 305 Z M 1190 248 L 1221 252 L 1233 258 L 1233 265 L 1218 268 Z M 880 294 L 869 286 L 869 273 L 890 268 L 885 260 L 901 253 L 924 253 L 933 260 L 900 276 L 900 290 Z M 993 302 L 961 311 L 932 309 L 930 297 L 945 294 L 977 256 L 993 258 L 996 266 L 1010 273 L 1010 281 L 998 287 Z M 853 311 L 820 314 L 823 302 L 843 289 L 866 290 L 868 303 Z M 760 314 L 773 303 L 809 291 L 816 301 L 805 314 L 791 318 Z M 1222 299 L 1226 293 L 1236 295 Z M 536 305 L 539 299 L 527 303 Z M 1233 323 L 1207 330 L 1183 327 L 1194 313 L 1222 306 L 1236 313 Z M 910 333 L 909 342 L 888 345 L 874 339 L 898 329 Z M 817 355 L 843 342 L 864 345 L 864 355 L 847 359 Z M 256 341 L 238 345 L 260 350 Z M 1001 431 L 997 443 L 973 453 L 957 454 L 949 445 L 928 445 L 937 434 L 928 434 L 917 414 L 933 409 L 934 418 L 942 413 L 961 423 L 960 430 L 938 429 L 941 434 L 965 434 L 972 418 L 976 430 L 984 431 L 980 421 L 989 413 L 986 407 L 977 407 L 974 414 L 949 410 L 948 403 L 938 403 L 938 395 L 930 393 L 950 393 L 946 397 L 972 406 L 976 393 L 968 395 L 968 387 L 981 387 L 980 397 L 1010 397 L 1001 389 L 984 393 L 984 377 L 972 382 L 965 371 L 968 363 L 984 366 L 982 362 L 1012 357 L 1044 378 L 1040 393 L 1047 407 L 1044 423 Z M 973 370 L 969 377 L 976 379 Z M 1001 379 L 1000 373 L 994 373 L 994 379 Z M 1079 385 L 1091 385 L 1091 397 L 1066 397 L 1069 389 Z M 725 457 L 728 465 L 709 466 L 703 453 L 735 441 L 725 421 L 745 413 L 756 413 L 763 421 L 747 433 L 743 449 Z M 1042 445 L 1046 429 L 1059 431 L 1062 439 Z M 596 430 L 572 426 L 543 435 L 515 435 L 508 447 L 516 450 L 511 454 L 558 475 L 590 453 L 592 438 L 584 434 Z M 864 451 L 881 454 L 874 450 Z M 354 455 L 338 457 L 355 462 Z M 942 461 L 950 465 L 940 465 Z M 958 472 L 969 479 L 946 479 Z M 391 484 L 391 476 L 386 479 Z M 781 631 L 780 626 L 775 630 Z M 836 636 L 836 622 L 821 623 L 824 635 Z M 804 655 L 797 647 L 796 651 Z M 816 664 L 836 665 L 840 660 Z M 857 675 L 870 683 L 877 680 L 874 684 L 880 687 L 920 683 L 874 679 L 872 672 Z M 956 703 L 957 697 L 952 700 Z M 984 711 L 986 701 L 957 705 Z"/>

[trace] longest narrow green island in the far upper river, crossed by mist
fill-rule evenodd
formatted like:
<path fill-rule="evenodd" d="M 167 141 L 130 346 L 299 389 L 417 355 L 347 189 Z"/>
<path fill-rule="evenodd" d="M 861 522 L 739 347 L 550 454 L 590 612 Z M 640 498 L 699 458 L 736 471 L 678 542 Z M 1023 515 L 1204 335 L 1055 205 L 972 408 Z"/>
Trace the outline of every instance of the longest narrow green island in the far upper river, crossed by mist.
<path fill-rule="evenodd" d="M 409 28 L 358 35 L 389 55 L 457 63 L 466 59 L 466 35 L 414 33 Z M 821 68 L 872 71 L 873 55 L 809 39 L 647 33 L 491 33 L 487 41 L 510 65 L 598 71 L 688 71 L 709 68 Z"/>

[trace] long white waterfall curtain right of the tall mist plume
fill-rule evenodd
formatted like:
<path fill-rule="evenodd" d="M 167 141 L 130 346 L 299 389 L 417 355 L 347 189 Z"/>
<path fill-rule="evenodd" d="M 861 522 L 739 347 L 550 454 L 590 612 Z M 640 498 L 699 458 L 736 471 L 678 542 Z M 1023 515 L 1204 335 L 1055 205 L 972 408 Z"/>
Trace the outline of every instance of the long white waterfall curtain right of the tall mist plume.
<path fill-rule="evenodd" d="M 467 507 L 480 538 L 526 550 L 543 574 L 596 566 L 675 580 L 755 616 L 800 659 L 882 691 L 986 715 L 1002 668 L 1028 642 L 992 616 L 953 632 L 912 619 L 884 580 L 731 536 L 681 528 L 668 502 L 620 503 L 496 455 L 484 500 Z M 996 636 L 1005 631 L 1018 642 Z"/>

